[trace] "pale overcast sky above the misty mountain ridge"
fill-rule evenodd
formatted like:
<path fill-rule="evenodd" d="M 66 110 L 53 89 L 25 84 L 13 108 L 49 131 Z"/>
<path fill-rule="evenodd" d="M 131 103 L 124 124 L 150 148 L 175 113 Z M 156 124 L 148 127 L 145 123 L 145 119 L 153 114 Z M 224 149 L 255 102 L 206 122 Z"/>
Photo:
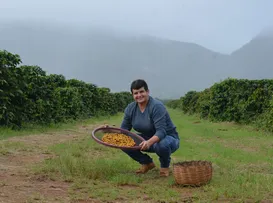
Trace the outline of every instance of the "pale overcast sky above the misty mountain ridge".
<path fill-rule="evenodd" d="M 0 20 L 99 25 L 230 53 L 273 25 L 273 0 L 0 0 Z"/>

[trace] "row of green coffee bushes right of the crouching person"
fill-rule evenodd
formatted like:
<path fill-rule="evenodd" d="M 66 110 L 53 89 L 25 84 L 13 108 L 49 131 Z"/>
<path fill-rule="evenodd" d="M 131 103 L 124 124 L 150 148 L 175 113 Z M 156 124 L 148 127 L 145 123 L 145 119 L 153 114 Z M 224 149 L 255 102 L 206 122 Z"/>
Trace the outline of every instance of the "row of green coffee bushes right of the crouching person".
<path fill-rule="evenodd" d="M 272 94 L 273 80 L 228 78 L 204 91 L 189 91 L 167 105 L 211 121 L 255 123 L 273 131 Z"/>

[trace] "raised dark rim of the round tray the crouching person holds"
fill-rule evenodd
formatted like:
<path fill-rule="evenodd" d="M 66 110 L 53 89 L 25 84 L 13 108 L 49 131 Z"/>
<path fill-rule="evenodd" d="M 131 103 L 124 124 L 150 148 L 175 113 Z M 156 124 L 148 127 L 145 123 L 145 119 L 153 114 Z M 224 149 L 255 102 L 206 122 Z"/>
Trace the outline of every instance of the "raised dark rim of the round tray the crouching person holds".
<path fill-rule="evenodd" d="M 135 136 L 136 138 L 138 138 L 140 141 L 145 141 L 145 139 L 141 136 L 139 136 L 138 134 L 136 133 L 133 133 L 129 130 L 125 130 L 125 129 L 122 129 L 122 128 L 117 128 L 117 127 L 110 127 L 110 126 L 104 126 L 104 127 L 98 127 L 98 128 L 95 128 L 93 131 L 92 131 L 92 138 L 99 144 L 102 144 L 104 146 L 107 146 L 107 147 L 113 147 L 113 148 L 118 148 L 118 149 L 131 149 L 131 150 L 140 150 L 141 149 L 141 146 L 133 146 L 133 147 L 121 147 L 121 146 L 117 146 L 117 145 L 113 145 L 113 144 L 108 144 L 108 143 L 105 143 L 103 142 L 102 140 L 100 140 L 99 138 L 96 137 L 95 133 L 99 130 L 103 130 L 103 129 L 110 129 L 110 130 L 120 130 L 120 131 L 123 131 L 125 133 L 129 133 L 129 134 L 132 134 L 133 136 Z"/>

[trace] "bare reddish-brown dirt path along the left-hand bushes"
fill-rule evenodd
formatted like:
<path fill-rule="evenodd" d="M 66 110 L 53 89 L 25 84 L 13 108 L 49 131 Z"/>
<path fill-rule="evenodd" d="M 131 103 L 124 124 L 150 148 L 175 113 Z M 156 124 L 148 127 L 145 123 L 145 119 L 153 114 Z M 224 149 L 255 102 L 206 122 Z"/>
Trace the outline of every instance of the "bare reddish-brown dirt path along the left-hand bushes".
<path fill-rule="evenodd" d="M 51 157 L 47 152 L 50 145 L 80 139 L 91 133 L 93 127 L 81 126 L 75 131 L 28 135 L 0 141 L 2 146 L 15 146 L 6 153 L 0 151 L 0 203 L 71 202 L 68 195 L 69 183 L 35 176 L 28 167 Z"/>

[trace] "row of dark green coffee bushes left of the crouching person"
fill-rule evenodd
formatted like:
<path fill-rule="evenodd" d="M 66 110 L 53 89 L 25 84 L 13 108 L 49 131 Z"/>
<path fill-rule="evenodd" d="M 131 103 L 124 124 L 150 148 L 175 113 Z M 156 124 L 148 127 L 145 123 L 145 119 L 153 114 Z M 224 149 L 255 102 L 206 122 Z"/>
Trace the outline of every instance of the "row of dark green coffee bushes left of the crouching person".
<path fill-rule="evenodd" d="M 129 92 L 112 93 L 109 88 L 47 75 L 39 66 L 20 63 L 18 55 L 0 51 L 0 126 L 113 115 L 132 101 Z"/>

